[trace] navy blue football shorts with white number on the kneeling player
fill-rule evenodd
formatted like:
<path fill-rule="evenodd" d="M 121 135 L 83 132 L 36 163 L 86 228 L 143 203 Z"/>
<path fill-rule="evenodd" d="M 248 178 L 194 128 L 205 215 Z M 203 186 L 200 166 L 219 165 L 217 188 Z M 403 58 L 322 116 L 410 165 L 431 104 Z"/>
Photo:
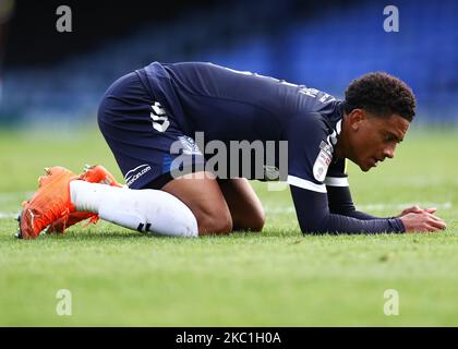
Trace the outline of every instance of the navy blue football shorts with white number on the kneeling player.
<path fill-rule="evenodd" d="M 155 99 L 134 72 L 107 89 L 98 109 L 100 131 L 131 189 L 161 189 L 205 163 L 170 108 Z"/>

